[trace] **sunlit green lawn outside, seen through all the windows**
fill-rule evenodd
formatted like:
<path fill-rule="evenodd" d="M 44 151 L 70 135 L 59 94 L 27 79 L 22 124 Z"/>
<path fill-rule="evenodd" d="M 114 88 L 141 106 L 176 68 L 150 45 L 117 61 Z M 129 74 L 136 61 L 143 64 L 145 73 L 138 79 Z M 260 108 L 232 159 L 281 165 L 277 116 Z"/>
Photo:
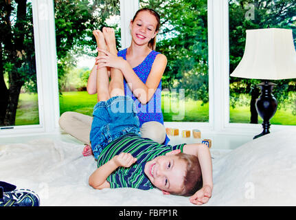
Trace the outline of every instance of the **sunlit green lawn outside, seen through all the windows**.
<path fill-rule="evenodd" d="M 181 122 L 208 122 L 209 104 L 202 105 L 201 101 L 194 101 L 185 98 L 185 108 L 179 107 L 179 97 L 172 98 L 163 91 L 161 105 L 163 118 L 166 122 L 173 119 L 173 115 L 179 115 L 177 121 Z M 89 95 L 87 91 L 63 92 L 60 96 L 60 114 L 65 111 L 76 111 L 86 115 L 91 115 L 93 106 L 96 104 L 96 95 Z M 168 106 L 169 105 L 169 106 Z M 249 123 L 250 111 L 248 106 L 236 106 L 230 108 L 230 122 Z M 36 94 L 21 94 L 19 107 L 16 111 L 16 125 L 38 124 L 38 97 Z M 262 123 L 259 117 L 259 123 Z M 296 115 L 293 115 L 291 108 L 278 109 L 271 119 L 271 124 L 296 125 Z"/>

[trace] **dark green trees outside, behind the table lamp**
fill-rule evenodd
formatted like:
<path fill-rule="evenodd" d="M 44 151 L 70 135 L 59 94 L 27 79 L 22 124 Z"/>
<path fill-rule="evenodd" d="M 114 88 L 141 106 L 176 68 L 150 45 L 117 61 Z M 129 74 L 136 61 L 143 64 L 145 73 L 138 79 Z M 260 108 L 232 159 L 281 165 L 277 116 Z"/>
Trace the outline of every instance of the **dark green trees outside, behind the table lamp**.
<path fill-rule="evenodd" d="M 251 4 L 251 5 L 250 5 Z M 249 19 L 248 11 L 252 6 L 253 17 Z M 244 54 L 246 30 L 258 28 L 291 28 L 294 39 L 296 36 L 296 1 L 294 0 L 229 0 L 229 50 L 230 73 L 240 63 Z M 296 43 L 296 39 L 295 39 Z M 231 104 L 234 107 L 240 94 L 250 94 L 251 123 L 258 123 L 258 113 L 255 110 L 255 100 L 260 95 L 256 86 L 260 80 L 229 77 Z M 296 90 L 296 82 L 278 80 L 273 95 L 281 104 L 288 98 L 289 91 Z M 280 105 L 279 105 L 280 107 Z"/>

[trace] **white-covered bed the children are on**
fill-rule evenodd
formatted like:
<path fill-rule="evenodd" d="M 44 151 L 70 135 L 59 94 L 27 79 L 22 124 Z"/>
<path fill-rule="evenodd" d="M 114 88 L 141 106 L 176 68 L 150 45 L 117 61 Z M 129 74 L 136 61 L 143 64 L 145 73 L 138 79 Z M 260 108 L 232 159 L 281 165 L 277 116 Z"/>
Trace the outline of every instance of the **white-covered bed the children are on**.
<path fill-rule="evenodd" d="M 296 206 L 295 143 L 290 127 L 234 150 L 212 149 L 214 190 L 203 206 Z M 51 138 L 0 144 L 0 180 L 34 190 L 41 206 L 194 206 L 156 188 L 94 190 L 88 178 L 96 163 L 82 148 Z"/>

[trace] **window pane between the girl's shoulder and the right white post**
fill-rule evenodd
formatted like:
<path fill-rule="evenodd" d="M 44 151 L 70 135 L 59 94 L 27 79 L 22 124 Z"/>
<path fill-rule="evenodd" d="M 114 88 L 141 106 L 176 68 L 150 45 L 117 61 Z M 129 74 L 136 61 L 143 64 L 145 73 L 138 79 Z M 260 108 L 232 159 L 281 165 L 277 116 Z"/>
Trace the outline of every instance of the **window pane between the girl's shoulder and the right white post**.
<path fill-rule="evenodd" d="M 139 3 L 161 17 L 156 51 L 168 58 L 161 80 L 164 121 L 208 122 L 207 0 Z"/>

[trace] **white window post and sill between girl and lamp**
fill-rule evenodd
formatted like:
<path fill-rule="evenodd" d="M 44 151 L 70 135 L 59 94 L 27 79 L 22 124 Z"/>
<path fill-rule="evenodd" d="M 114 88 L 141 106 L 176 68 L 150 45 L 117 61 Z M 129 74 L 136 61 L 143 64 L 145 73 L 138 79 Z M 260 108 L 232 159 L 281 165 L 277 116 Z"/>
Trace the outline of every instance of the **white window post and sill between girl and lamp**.
<path fill-rule="evenodd" d="M 179 129 L 201 129 L 203 132 L 253 136 L 262 132 L 262 124 L 229 122 L 229 3 L 228 0 L 207 0 L 209 122 L 165 122 Z M 293 125 L 292 125 L 293 126 Z M 270 131 L 291 125 L 272 124 Z"/>

